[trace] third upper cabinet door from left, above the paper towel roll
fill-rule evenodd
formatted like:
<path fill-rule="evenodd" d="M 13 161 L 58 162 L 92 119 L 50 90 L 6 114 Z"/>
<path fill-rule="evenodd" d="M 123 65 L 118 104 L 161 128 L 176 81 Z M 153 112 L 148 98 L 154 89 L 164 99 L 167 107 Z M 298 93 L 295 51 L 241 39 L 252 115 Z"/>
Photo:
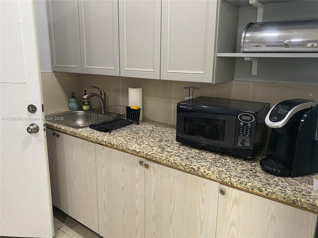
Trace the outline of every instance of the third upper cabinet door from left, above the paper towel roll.
<path fill-rule="evenodd" d="M 120 75 L 160 77 L 160 0 L 119 0 Z"/>

